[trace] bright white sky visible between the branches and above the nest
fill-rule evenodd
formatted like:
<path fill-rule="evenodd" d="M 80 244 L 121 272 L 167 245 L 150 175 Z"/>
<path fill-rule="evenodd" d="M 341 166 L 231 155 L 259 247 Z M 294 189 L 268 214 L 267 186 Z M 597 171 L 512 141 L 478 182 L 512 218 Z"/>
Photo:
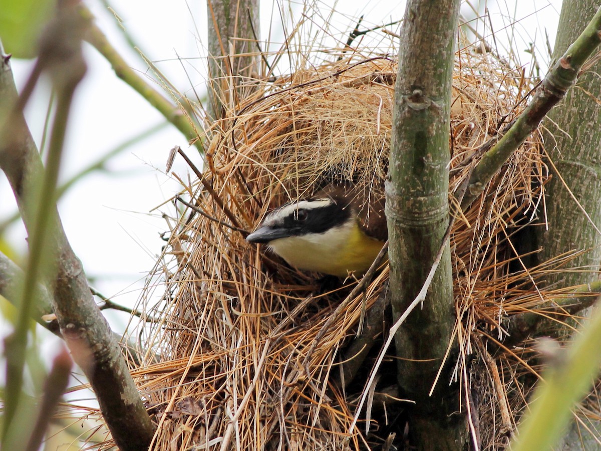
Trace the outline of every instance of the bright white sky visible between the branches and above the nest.
<path fill-rule="evenodd" d="M 111 14 L 97 0 L 86 3 L 97 15 L 100 28 L 108 34 L 114 46 L 123 52 L 133 67 L 144 72 L 141 60 L 124 43 Z M 401 19 L 404 11 L 404 2 L 346 0 L 344 7 L 342 4 L 338 10 L 344 11 L 344 15 L 336 14 L 330 20 L 332 28 L 340 29 L 342 35 L 352 30 L 361 14 L 365 14 L 361 27 L 364 28 Z M 324 1 L 316 5 L 322 11 L 329 11 L 334 2 Z M 172 84 L 182 91 L 190 91 L 190 76 L 197 90 L 204 90 L 202 73 L 206 64 L 203 55 L 207 26 L 204 2 L 114 0 L 112 7 L 123 19 L 123 26 L 147 56 L 156 61 Z M 293 8 L 300 11 L 301 5 L 295 4 Z M 515 49 L 521 51 L 529 41 L 536 41 L 545 54 L 545 32 L 553 44 L 560 0 L 505 1 L 499 5 L 489 2 L 489 8 L 497 41 L 514 38 L 503 27 L 511 22 L 508 17 L 516 17 L 522 20 L 515 28 L 521 39 L 514 41 Z M 281 28 L 278 26 L 280 19 L 276 11 L 270 2 L 261 2 L 261 36 L 266 37 L 270 24 L 273 24 L 273 39 L 281 41 L 281 32 L 277 31 Z M 464 7 L 462 12 L 468 15 L 470 10 Z M 323 12 L 324 16 L 326 14 Z M 299 12 L 296 17 L 299 17 Z M 316 19 L 317 23 L 319 19 Z M 7 51 L 10 52 L 10 49 Z M 73 109 L 61 168 L 63 180 L 136 133 L 162 121 L 159 113 L 121 82 L 94 49 L 87 46 L 85 55 L 89 69 L 78 89 Z M 183 58 L 183 62 L 177 60 L 178 56 Z M 525 55 L 523 63 L 529 63 L 528 58 Z M 546 63 L 546 57 L 539 58 L 539 63 Z M 23 84 L 30 66 L 27 62 L 13 61 L 17 85 Z M 47 93 L 38 90 L 35 101 L 27 110 L 31 131 L 38 143 L 46 105 Z M 59 203 L 67 236 L 84 263 L 88 277 L 94 278 L 93 284 L 100 292 L 115 296 L 114 300 L 121 304 L 134 304 L 145 275 L 165 245 L 159 239 L 159 233 L 166 229 L 165 221 L 159 213 L 148 212 L 178 191 L 178 183 L 162 172 L 169 149 L 175 145 L 188 149 L 188 155 L 200 165 L 201 158 L 197 152 L 189 149 L 185 137 L 169 126 L 113 159 L 109 167 L 114 173 L 88 176 Z M 184 180 L 190 172 L 181 158 L 176 160 L 173 170 Z M 15 208 L 10 188 L 4 175 L 0 174 L 0 221 Z M 25 251 L 25 233 L 20 223 L 11 227 L 9 236 L 17 250 Z M 126 316 L 112 318 L 117 329 L 125 321 Z"/>

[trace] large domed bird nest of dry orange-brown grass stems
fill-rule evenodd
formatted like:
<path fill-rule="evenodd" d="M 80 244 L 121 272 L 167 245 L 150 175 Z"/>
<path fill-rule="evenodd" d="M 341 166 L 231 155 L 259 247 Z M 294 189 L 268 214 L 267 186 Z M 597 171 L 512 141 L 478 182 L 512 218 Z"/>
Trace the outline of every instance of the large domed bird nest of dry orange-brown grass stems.
<path fill-rule="evenodd" d="M 137 333 L 147 348 L 132 373 L 158 425 L 151 449 L 344 450 L 386 440 L 377 427 L 362 432 L 369 414 L 359 418 L 361 428 L 351 427 L 365 375 L 352 384 L 358 370 L 349 376 L 352 355 L 341 356 L 361 338 L 362 311 L 383 298 L 388 269 L 337 311 L 355 280 L 316 294 L 316 274 L 245 242 L 245 232 L 270 208 L 327 182 L 381 194 L 396 72 L 397 61 L 382 55 L 297 70 L 257 82 L 210 127 L 202 173 L 193 168 L 198 179 L 175 200 L 179 214 L 141 303 L 149 321 Z M 479 147 L 519 114 L 531 88 L 522 70 L 491 54 L 457 55 L 451 192 Z M 505 389 L 517 378 L 516 360 L 493 360 L 485 340 L 501 336 L 507 316 L 532 301 L 531 275 L 512 266 L 511 234 L 532 219 L 546 177 L 535 133 L 451 234 L 456 373 L 472 354 L 489 367 L 480 381 L 483 446 L 501 443 L 521 408 Z M 368 355 L 364 366 L 371 364 Z M 376 388 L 380 410 L 398 402 L 385 390 Z"/>

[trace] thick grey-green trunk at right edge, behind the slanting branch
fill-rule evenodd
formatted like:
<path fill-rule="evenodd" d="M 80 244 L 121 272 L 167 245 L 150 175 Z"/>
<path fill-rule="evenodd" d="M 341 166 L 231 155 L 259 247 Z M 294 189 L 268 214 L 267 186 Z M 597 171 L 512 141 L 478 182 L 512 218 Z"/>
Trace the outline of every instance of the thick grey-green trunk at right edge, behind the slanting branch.
<path fill-rule="evenodd" d="M 554 58 L 561 57 L 595 14 L 599 4 L 593 0 L 564 0 L 555 43 Z M 567 93 L 560 108 L 549 114 L 546 126 L 551 133 L 545 146 L 557 171 L 546 185 L 548 230 L 537 227 L 535 244 L 542 248 L 539 262 L 570 250 L 587 252 L 576 258 L 572 267 L 588 271 L 563 272 L 547 277 L 549 284 L 572 286 L 599 278 L 601 235 L 591 221 L 601 227 L 601 110 L 595 99 L 601 99 L 599 64 L 591 67 Z M 558 176 L 559 174 L 559 176 Z M 561 177 L 560 177 L 561 176 Z M 561 181 L 565 181 L 566 185 Z M 582 204 L 590 220 L 577 206 L 572 195 Z M 557 326 L 553 329 L 557 330 Z M 599 428 L 599 425 L 596 425 Z M 599 449 L 594 437 L 576 423 L 558 449 Z"/>

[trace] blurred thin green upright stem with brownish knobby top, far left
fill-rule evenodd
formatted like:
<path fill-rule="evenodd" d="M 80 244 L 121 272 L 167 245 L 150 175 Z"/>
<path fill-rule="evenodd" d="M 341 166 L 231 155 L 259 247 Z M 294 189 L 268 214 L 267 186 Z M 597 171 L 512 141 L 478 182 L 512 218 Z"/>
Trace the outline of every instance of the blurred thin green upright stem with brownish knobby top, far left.
<path fill-rule="evenodd" d="M 5 415 L 2 428 L 2 443 L 6 443 L 10 425 L 19 405 L 25 368 L 28 331 L 31 312 L 35 303 L 35 290 L 38 280 L 52 280 L 54 274 L 53 260 L 56 259 L 56 224 L 58 218 L 55 207 L 56 181 L 63 153 L 63 144 L 69 111 L 72 105 L 75 88 L 85 75 L 87 67 L 81 55 L 81 35 L 86 23 L 73 17 L 72 11 L 59 8 L 56 19 L 46 29 L 41 42 L 38 58 L 27 85 L 34 86 L 43 70 L 47 70 L 53 78 L 57 91 L 57 105 L 50 136 L 50 146 L 46 162 L 46 170 L 41 171 L 40 178 L 31 179 L 26 188 L 25 201 L 29 209 L 29 256 L 27 259 L 25 279 L 20 290 L 19 311 L 14 332 L 5 341 L 7 356 L 7 381 L 5 398 Z M 72 31 L 69 38 L 63 29 Z M 65 66 L 62 66 L 64 64 Z M 58 67 L 69 67 L 66 72 Z M 16 103 L 11 109 L 0 133 L 2 141 L 10 141 L 14 129 L 20 129 L 19 116 L 25 102 Z M 12 138 L 14 140 L 14 138 Z M 10 151 L 8 151 L 10 152 Z M 7 153 L 8 153 L 7 152 Z"/>

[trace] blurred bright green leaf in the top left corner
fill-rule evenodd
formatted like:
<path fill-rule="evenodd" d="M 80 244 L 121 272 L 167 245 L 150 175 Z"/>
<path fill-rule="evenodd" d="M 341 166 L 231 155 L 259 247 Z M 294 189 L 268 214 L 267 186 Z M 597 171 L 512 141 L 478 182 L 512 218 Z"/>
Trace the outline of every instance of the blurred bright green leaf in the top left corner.
<path fill-rule="evenodd" d="M 0 38 L 4 51 L 15 58 L 34 58 L 55 0 L 0 0 Z"/>

